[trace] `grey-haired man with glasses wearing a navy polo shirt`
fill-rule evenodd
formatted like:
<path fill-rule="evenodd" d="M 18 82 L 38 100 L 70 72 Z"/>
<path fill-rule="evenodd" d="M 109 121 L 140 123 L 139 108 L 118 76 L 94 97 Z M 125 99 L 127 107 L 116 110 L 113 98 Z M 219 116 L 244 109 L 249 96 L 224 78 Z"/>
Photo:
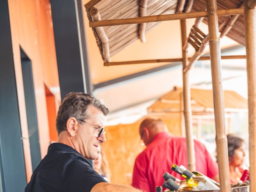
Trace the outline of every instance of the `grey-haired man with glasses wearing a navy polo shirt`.
<path fill-rule="evenodd" d="M 56 119 L 58 142 L 34 170 L 25 192 L 139 192 L 106 182 L 86 159 L 96 159 L 106 142 L 108 109 L 90 94 L 67 94 Z"/>

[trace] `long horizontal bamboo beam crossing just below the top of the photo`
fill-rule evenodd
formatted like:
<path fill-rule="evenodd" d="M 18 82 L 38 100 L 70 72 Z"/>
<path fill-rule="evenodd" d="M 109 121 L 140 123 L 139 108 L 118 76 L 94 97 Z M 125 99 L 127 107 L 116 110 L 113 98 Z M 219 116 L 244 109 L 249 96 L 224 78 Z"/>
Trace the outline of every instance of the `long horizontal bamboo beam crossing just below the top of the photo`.
<path fill-rule="evenodd" d="M 217 10 L 218 16 L 237 15 L 244 14 L 244 9 L 223 9 Z M 138 23 L 149 23 L 159 21 L 170 21 L 170 20 L 181 20 L 197 17 L 207 17 L 207 11 L 198 11 L 190 13 L 177 13 L 177 14 L 166 14 L 166 15 L 152 15 L 145 17 L 126 18 L 126 19 L 111 19 L 102 21 L 92 21 L 89 23 L 90 27 L 102 27 L 102 26 L 115 26 L 115 25 L 126 25 L 126 24 L 138 24 Z"/>

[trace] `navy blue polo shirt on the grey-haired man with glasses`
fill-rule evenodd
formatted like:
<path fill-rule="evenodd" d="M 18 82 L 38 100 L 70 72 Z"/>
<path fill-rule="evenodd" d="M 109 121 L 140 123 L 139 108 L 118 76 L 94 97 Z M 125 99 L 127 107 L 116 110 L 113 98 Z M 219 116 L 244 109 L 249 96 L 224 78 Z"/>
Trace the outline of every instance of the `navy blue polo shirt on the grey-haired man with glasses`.
<path fill-rule="evenodd" d="M 106 182 L 74 148 L 53 143 L 34 170 L 25 192 L 90 192 Z"/>

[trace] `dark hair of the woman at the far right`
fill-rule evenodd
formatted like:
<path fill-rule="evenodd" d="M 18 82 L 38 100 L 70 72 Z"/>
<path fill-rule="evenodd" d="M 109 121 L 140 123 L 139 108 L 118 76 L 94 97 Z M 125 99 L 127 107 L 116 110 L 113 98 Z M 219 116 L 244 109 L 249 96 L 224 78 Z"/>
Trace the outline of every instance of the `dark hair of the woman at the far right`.
<path fill-rule="evenodd" d="M 244 144 L 244 140 L 234 134 L 228 134 L 228 157 L 232 157 L 236 149 L 240 148 Z"/>

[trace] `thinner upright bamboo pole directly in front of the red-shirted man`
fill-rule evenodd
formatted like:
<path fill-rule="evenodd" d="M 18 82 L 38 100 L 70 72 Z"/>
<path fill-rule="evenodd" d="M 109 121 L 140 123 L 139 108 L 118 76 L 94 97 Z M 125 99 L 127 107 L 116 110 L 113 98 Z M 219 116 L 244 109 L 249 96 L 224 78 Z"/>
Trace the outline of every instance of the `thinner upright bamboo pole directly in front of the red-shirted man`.
<path fill-rule="evenodd" d="M 186 20 L 180 20 L 181 41 L 182 46 L 186 43 Z M 182 66 L 186 68 L 188 64 L 188 51 L 182 50 Z M 191 96 L 189 85 L 189 73 L 183 74 L 183 103 L 184 103 L 184 120 L 187 140 L 187 155 L 188 155 L 188 169 L 190 171 L 196 170 L 195 148 L 192 132 L 192 110 L 191 110 Z"/>

